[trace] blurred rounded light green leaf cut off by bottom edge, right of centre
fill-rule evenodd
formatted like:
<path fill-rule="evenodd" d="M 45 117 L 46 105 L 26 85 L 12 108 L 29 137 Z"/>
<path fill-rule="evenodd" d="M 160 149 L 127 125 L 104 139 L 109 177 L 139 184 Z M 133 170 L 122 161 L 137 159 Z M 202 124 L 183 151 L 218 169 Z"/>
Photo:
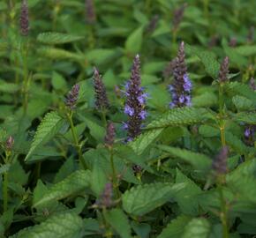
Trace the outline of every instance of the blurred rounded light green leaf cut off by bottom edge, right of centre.
<path fill-rule="evenodd" d="M 192 219 L 185 227 L 182 238 L 207 238 L 211 227 L 207 219 Z"/>

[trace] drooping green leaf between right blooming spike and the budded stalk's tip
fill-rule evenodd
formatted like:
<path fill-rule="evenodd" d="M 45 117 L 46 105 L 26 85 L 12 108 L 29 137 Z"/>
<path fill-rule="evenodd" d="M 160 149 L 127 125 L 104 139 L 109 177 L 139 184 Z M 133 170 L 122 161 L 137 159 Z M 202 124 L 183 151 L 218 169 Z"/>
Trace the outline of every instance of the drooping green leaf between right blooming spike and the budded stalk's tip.
<path fill-rule="evenodd" d="M 191 53 L 191 55 L 196 55 L 200 58 L 201 63 L 204 64 L 207 74 L 212 78 L 217 79 L 220 63 L 216 60 L 215 53 L 206 50 L 200 50 L 198 48 L 193 48 L 192 46 L 186 45 L 186 48 Z"/>

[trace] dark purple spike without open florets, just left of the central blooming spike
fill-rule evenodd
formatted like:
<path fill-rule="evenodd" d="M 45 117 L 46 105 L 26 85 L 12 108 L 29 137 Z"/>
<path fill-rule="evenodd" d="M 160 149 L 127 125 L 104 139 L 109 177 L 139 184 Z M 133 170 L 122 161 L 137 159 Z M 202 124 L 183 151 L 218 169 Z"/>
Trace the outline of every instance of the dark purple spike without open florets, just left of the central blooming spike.
<path fill-rule="evenodd" d="M 102 82 L 102 76 L 99 71 L 94 67 L 94 95 L 95 106 L 102 110 L 109 108 L 109 100 L 106 93 L 106 87 Z"/>

